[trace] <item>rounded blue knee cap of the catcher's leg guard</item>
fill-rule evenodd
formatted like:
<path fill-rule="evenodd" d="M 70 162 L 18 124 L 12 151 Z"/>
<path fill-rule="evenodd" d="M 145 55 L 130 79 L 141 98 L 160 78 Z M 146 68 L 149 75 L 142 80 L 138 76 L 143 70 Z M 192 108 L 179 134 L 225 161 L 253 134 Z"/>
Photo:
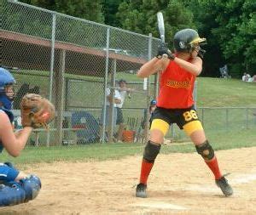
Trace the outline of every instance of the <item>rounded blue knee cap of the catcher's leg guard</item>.
<path fill-rule="evenodd" d="M 36 198 L 42 186 L 40 178 L 35 175 L 20 179 L 20 184 L 26 193 L 25 201 L 30 201 Z"/>

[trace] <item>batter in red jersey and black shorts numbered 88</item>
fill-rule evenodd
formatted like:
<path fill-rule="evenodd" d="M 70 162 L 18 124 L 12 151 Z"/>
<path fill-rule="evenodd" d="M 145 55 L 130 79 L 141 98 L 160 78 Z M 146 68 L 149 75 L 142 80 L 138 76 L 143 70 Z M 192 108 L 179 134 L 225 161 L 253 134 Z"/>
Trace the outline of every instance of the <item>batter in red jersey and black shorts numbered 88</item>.
<path fill-rule="evenodd" d="M 150 140 L 143 154 L 140 183 L 136 189 L 137 197 L 147 197 L 148 175 L 172 123 L 177 123 L 195 144 L 195 150 L 211 169 L 215 182 L 224 195 L 233 194 L 230 184 L 219 170 L 217 157 L 194 107 L 194 83 L 196 76 L 201 74 L 201 58 L 205 52 L 200 46 L 205 42 L 206 39 L 199 37 L 193 29 L 178 31 L 173 40 L 176 53 L 172 54 L 166 44 L 161 44 L 156 57 L 144 64 L 137 73 L 139 77 L 148 77 L 160 71 L 160 93 L 157 107 L 151 116 Z M 167 55 L 167 58 L 163 58 L 163 54 Z"/>

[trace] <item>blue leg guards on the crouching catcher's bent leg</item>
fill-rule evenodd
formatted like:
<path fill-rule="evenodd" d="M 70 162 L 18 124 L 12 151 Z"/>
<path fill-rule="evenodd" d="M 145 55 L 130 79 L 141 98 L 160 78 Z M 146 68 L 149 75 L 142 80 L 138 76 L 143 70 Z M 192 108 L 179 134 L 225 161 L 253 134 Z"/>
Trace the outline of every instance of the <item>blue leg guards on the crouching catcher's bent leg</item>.
<path fill-rule="evenodd" d="M 20 182 L 8 182 L 0 184 L 0 207 L 14 206 L 31 201 L 38 196 L 41 189 L 41 181 L 31 175 L 20 179 Z"/>

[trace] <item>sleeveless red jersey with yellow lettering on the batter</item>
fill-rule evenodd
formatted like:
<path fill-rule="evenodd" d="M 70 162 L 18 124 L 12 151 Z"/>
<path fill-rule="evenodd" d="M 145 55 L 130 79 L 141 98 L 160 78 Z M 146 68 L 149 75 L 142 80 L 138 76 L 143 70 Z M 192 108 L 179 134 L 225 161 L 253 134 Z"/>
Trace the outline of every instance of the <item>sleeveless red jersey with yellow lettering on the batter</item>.
<path fill-rule="evenodd" d="M 194 105 L 195 78 L 195 75 L 171 60 L 166 71 L 160 75 L 160 93 L 157 106 L 166 109 L 184 109 Z"/>

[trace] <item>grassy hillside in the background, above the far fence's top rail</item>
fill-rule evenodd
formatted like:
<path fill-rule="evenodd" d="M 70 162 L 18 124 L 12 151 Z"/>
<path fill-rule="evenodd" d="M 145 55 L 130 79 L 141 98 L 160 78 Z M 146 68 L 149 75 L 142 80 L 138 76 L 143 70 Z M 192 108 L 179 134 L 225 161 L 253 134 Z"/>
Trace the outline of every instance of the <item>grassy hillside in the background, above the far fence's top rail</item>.
<path fill-rule="evenodd" d="M 27 76 L 26 74 L 31 74 Z M 40 74 L 40 76 L 38 76 Z M 15 78 L 20 85 L 23 82 L 38 85 L 41 93 L 47 95 L 49 92 L 49 72 L 48 71 L 21 71 L 15 73 Z M 69 88 L 69 98 L 73 98 L 73 105 L 77 106 L 101 106 L 103 96 L 103 78 L 94 76 L 76 76 L 66 74 L 67 78 L 76 78 L 85 82 L 72 83 Z M 130 84 L 128 87 L 143 91 L 143 79 L 135 74 L 118 72 L 117 79 L 124 78 L 127 82 L 141 82 Z M 94 82 L 91 82 L 94 81 Z M 150 81 L 154 82 L 154 76 L 150 76 Z M 90 89 L 90 90 L 88 90 Z M 199 107 L 255 107 L 256 106 L 256 83 L 241 82 L 238 79 L 222 79 L 210 77 L 197 78 L 197 105 Z M 151 86 L 151 93 L 154 86 Z M 144 107 L 146 95 L 143 93 L 133 93 L 132 99 L 125 100 L 125 107 Z M 86 100 L 84 100 L 86 98 Z M 153 97 L 152 97 L 153 98 Z M 85 102 L 86 101 L 86 102 Z M 90 103 L 88 103 L 90 101 Z"/>

